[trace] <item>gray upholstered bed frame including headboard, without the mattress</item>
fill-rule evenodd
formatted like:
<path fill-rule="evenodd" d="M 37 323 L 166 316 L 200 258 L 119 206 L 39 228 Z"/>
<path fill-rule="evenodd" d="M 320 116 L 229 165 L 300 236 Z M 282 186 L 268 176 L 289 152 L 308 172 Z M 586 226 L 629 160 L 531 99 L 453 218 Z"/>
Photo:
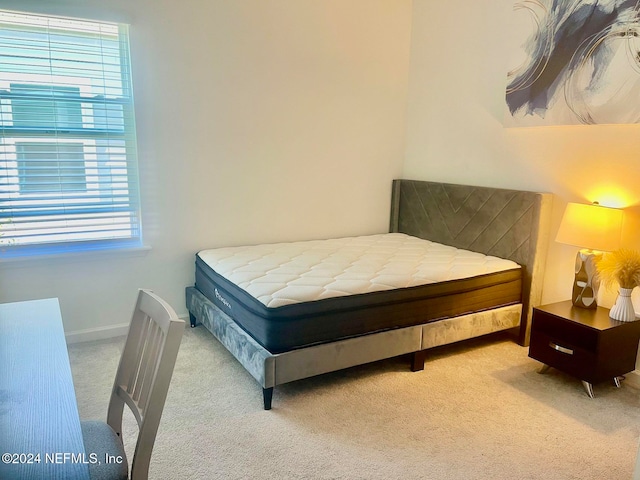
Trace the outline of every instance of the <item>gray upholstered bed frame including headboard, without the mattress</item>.
<path fill-rule="evenodd" d="M 336 342 L 273 354 L 195 287 L 187 287 L 191 326 L 201 322 L 260 383 L 264 409 L 276 385 L 398 355 L 424 368 L 429 348 L 514 329 L 528 345 L 540 303 L 551 194 L 415 180 L 394 180 L 391 232 L 507 258 L 523 268 L 522 302 Z"/>

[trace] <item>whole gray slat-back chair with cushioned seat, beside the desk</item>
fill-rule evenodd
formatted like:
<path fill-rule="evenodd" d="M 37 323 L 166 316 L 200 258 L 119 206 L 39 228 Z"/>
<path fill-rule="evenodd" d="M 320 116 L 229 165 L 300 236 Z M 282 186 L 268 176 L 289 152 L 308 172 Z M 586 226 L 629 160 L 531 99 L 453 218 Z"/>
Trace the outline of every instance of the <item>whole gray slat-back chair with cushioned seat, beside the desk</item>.
<path fill-rule="evenodd" d="M 89 464 L 92 480 L 129 478 L 122 443 L 125 404 L 138 423 L 130 478 L 147 479 L 183 331 L 184 321 L 169 304 L 148 290 L 140 290 L 111 391 L 107 421 L 81 422 L 85 451 L 96 454 L 98 460 Z"/>

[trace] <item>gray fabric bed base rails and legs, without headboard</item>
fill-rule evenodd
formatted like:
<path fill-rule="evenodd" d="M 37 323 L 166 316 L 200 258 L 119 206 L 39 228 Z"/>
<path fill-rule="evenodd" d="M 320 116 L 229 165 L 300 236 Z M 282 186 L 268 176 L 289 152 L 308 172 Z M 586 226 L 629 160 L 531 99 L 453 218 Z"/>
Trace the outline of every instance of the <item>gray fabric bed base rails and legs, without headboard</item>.
<path fill-rule="evenodd" d="M 272 354 L 195 287 L 187 287 L 186 299 L 192 325 L 202 323 L 260 383 L 265 410 L 277 385 L 508 330 L 520 325 L 522 313 L 522 304 L 515 304 Z M 413 369 L 422 366 L 414 362 Z"/>

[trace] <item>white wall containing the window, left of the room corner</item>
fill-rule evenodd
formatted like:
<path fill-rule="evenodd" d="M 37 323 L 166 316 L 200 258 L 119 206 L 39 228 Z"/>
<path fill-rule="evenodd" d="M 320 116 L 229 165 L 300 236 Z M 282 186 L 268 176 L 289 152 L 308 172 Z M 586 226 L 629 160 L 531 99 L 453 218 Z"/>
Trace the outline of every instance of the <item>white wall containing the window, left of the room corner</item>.
<path fill-rule="evenodd" d="M 206 247 L 385 231 L 404 152 L 410 0 L 0 0 L 131 23 L 151 250 L 0 262 L 0 302 L 59 297 L 67 332 L 185 314 Z"/>

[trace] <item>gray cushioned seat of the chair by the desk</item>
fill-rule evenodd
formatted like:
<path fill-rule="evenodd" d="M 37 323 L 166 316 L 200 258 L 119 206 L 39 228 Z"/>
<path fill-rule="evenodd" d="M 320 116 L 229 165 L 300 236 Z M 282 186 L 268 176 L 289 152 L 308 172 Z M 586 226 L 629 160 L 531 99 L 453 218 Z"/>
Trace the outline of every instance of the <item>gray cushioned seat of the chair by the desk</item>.
<path fill-rule="evenodd" d="M 127 456 L 116 432 L 106 422 L 82 421 L 80 426 L 87 458 L 95 454 L 98 460 L 96 464 L 89 464 L 91 480 L 127 480 L 129 478 Z M 121 458 L 122 462 L 107 460 L 117 458 Z"/>

